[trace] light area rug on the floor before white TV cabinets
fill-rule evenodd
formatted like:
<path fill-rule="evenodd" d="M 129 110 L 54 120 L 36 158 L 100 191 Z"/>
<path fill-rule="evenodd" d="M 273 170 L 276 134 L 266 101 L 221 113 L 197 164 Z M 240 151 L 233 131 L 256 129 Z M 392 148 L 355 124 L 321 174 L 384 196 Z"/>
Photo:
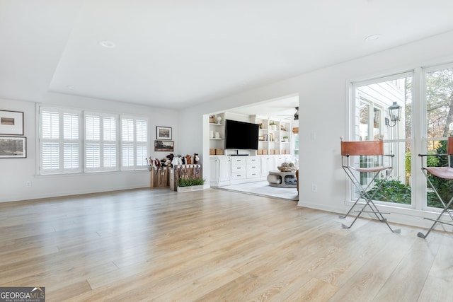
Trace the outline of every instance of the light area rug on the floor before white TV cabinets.
<path fill-rule="evenodd" d="M 290 200 L 299 200 L 297 188 L 295 187 L 271 187 L 267 181 L 248 182 L 239 185 L 225 185 L 217 187 L 221 190 L 231 190 L 247 194 L 260 195 L 265 197 L 275 197 Z"/>

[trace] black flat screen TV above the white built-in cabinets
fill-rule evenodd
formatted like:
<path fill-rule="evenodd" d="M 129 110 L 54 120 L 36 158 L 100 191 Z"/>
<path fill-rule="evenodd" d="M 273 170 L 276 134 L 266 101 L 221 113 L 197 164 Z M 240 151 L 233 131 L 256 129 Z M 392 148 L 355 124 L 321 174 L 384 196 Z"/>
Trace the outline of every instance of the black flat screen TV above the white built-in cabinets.
<path fill-rule="evenodd" d="M 225 121 L 225 149 L 258 150 L 258 124 Z"/>

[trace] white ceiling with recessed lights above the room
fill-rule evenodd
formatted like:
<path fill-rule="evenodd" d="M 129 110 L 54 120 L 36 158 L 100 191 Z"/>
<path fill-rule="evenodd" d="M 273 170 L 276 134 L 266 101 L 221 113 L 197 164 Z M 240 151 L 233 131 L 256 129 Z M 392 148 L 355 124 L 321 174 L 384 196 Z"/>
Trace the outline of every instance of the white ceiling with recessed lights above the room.
<path fill-rule="evenodd" d="M 451 0 L 0 0 L 0 98 L 184 108 L 445 33 L 452 11 Z"/>

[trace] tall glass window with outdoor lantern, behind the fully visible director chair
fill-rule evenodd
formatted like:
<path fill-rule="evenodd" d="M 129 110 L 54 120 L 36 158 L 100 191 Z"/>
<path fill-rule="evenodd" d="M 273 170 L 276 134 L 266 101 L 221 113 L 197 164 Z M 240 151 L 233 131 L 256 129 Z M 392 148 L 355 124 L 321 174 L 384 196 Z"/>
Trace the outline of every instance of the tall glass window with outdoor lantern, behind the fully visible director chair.
<path fill-rule="evenodd" d="M 391 178 L 382 183 L 381 190 L 374 195 L 380 202 L 406 204 L 412 207 L 411 196 L 411 103 L 412 74 L 375 79 L 353 83 L 352 112 L 355 122 L 352 125 L 352 138 L 355 141 L 384 139 L 385 153 L 394 154 L 386 158 L 385 164 L 393 161 Z M 388 108 L 398 105 L 401 112 L 399 120 L 391 120 Z M 365 168 L 377 164 L 377 158 L 362 156 L 357 165 Z M 372 184 L 372 189 L 381 184 L 384 175 Z M 362 185 L 372 180 L 372 175 L 357 175 Z M 358 197 L 354 192 L 355 198 Z M 352 197 L 354 197 L 352 196 Z"/>

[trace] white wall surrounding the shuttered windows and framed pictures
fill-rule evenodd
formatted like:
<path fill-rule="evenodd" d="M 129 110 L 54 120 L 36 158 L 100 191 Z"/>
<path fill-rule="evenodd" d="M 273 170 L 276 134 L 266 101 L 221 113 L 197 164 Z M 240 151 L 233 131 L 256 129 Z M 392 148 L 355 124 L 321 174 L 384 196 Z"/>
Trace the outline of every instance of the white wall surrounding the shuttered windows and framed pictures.
<path fill-rule="evenodd" d="M 178 137 L 178 112 L 175 110 L 164 110 L 59 93 L 48 93 L 41 103 L 147 116 L 149 118 L 149 155 L 154 158 L 165 158 L 170 153 L 154 152 L 156 126 L 172 127 L 173 139 L 176 140 Z M 0 159 L 0 202 L 149 187 L 150 174 L 148 170 L 73 175 L 36 175 L 38 162 L 36 153 L 36 103 L 0 99 L 0 109 L 24 112 L 24 136 L 27 137 L 27 158 Z M 180 144 L 175 144 L 175 154 L 180 153 L 180 147 Z M 182 151 L 184 150 L 182 149 Z M 31 187 L 25 186 L 25 182 L 28 181 L 32 183 Z"/>

